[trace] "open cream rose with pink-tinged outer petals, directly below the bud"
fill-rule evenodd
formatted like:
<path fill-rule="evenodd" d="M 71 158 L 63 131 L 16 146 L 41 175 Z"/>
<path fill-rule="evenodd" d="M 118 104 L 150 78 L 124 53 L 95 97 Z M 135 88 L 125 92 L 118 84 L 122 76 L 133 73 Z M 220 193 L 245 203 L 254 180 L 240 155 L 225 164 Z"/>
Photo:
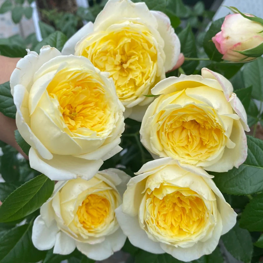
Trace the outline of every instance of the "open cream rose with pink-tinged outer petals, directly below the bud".
<path fill-rule="evenodd" d="M 151 92 L 162 95 L 147 109 L 140 134 L 154 157 L 216 172 L 245 161 L 246 112 L 225 77 L 203 68 L 201 76 L 169 77 Z"/>

